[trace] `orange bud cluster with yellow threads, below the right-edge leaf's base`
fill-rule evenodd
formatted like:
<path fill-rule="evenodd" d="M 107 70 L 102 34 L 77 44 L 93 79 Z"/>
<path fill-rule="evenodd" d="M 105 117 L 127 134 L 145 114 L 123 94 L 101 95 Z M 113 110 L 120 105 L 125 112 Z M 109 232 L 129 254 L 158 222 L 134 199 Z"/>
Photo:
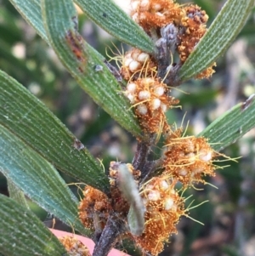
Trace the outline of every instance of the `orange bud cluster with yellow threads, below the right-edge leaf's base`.
<path fill-rule="evenodd" d="M 171 175 L 184 186 L 204 182 L 204 175 L 214 175 L 212 158 L 217 153 L 212 150 L 206 138 L 181 137 L 180 134 L 181 129 L 178 129 L 166 139 L 163 174 Z"/>

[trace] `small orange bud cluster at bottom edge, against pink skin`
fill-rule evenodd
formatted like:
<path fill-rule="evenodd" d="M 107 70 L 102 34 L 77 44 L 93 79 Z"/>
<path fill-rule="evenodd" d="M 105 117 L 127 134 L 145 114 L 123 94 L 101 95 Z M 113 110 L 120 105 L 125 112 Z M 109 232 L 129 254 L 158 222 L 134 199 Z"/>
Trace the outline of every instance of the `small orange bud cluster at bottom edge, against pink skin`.
<path fill-rule="evenodd" d="M 65 250 L 70 256 L 91 256 L 88 247 L 75 237 L 62 236 L 59 241 L 64 245 Z"/>

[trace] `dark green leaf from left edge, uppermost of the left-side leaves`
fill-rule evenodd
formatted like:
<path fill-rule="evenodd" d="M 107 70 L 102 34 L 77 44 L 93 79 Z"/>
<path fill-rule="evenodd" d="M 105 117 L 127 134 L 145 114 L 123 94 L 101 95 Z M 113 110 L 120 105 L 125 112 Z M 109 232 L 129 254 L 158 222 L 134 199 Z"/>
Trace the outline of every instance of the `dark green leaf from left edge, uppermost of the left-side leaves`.
<path fill-rule="evenodd" d="M 56 168 L 98 188 L 109 187 L 108 179 L 94 157 L 83 148 L 64 124 L 26 88 L 0 71 L 0 124 Z"/>

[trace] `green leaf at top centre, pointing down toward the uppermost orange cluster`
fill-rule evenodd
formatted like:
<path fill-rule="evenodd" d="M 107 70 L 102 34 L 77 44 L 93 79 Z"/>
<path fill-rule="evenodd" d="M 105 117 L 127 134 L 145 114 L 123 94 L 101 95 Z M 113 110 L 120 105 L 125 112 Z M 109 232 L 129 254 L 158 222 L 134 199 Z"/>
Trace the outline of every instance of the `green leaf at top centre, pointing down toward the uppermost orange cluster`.
<path fill-rule="evenodd" d="M 77 5 L 105 31 L 124 43 L 153 53 L 154 44 L 144 30 L 111 0 L 75 0 Z"/>

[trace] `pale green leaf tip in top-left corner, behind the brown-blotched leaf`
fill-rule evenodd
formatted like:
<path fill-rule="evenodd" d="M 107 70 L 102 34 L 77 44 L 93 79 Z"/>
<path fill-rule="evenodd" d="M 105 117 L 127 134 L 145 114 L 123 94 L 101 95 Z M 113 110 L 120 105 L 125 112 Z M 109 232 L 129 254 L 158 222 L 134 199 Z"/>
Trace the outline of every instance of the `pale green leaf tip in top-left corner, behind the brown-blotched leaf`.
<path fill-rule="evenodd" d="M 33 26 L 40 37 L 48 43 L 48 38 L 42 23 L 40 0 L 9 0 L 14 8 L 23 16 L 27 23 Z"/>

